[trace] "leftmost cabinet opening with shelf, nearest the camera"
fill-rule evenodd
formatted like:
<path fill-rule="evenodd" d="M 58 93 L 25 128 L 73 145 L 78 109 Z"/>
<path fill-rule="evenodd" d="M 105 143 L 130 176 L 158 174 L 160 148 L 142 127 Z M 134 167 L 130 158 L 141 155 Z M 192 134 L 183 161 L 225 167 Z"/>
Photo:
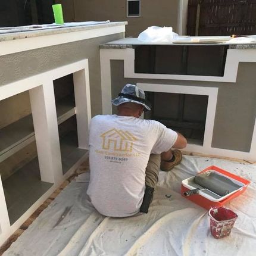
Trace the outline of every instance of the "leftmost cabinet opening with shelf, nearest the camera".
<path fill-rule="evenodd" d="M 13 97 L 1 102 L 10 118 L 4 116 L 0 129 L 0 174 L 11 224 L 52 186 L 40 178 L 29 93 Z M 23 102 L 24 97 L 28 102 Z"/>

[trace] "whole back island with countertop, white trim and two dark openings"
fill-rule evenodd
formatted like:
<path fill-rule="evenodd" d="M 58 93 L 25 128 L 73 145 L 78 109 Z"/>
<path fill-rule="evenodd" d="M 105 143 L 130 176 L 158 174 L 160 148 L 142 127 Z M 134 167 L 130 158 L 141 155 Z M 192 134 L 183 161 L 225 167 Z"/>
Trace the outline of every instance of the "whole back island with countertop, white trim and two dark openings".
<path fill-rule="evenodd" d="M 103 111 L 115 111 L 110 99 L 134 83 L 152 104 L 144 118 L 183 133 L 186 151 L 255 161 L 255 68 L 255 43 L 104 43 Z"/>

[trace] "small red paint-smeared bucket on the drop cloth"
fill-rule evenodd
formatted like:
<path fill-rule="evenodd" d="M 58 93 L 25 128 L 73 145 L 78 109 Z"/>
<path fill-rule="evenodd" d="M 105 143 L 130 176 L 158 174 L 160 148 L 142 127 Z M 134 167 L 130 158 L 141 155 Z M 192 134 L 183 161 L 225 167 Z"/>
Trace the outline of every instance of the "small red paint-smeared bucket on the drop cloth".
<path fill-rule="evenodd" d="M 209 210 L 210 230 L 214 238 L 228 236 L 235 224 L 236 213 L 224 207 L 214 207 Z"/>

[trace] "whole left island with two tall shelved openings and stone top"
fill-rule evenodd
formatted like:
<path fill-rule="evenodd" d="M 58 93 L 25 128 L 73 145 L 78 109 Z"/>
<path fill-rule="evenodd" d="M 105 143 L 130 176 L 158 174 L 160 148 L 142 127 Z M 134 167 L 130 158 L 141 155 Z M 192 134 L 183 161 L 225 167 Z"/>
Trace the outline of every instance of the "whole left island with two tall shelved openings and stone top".
<path fill-rule="evenodd" d="M 102 113 L 99 45 L 126 24 L 1 28 L 0 245 L 88 158 L 90 117 Z"/>

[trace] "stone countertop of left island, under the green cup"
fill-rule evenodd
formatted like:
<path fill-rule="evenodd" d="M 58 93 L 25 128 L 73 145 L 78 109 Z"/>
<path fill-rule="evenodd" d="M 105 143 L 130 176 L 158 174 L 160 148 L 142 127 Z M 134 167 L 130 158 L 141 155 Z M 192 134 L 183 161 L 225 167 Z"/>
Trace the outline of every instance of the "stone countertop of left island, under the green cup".
<path fill-rule="evenodd" d="M 33 38 L 36 36 L 56 35 L 60 33 L 77 32 L 82 30 L 102 29 L 105 27 L 124 26 L 127 21 L 110 22 L 110 21 L 85 21 L 77 23 L 64 23 L 57 26 L 55 24 L 31 25 L 23 27 L 0 28 L 0 42 Z M 10 31 L 10 32 L 9 32 Z M 1 33 L 2 32 L 2 33 Z M 8 33 L 9 32 L 9 33 Z"/>

